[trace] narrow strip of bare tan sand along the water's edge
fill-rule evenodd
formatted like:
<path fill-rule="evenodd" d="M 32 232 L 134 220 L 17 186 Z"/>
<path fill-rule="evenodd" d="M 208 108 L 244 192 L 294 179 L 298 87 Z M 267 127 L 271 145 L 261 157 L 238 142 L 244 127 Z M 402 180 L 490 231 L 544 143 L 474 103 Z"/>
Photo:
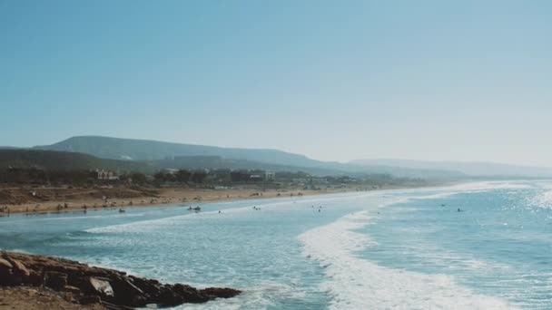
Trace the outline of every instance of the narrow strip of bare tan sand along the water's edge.
<path fill-rule="evenodd" d="M 133 198 L 109 198 L 106 199 L 55 199 L 43 203 L 0 204 L 0 218 L 10 215 L 48 215 L 64 214 L 97 210 L 113 210 L 117 208 L 146 208 L 161 207 L 167 205 L 192 206 L 205 202 L 248 200 L 248 199 L 275 199 L 305 197 L 325 194 L 338 194 L 349 192 L 370 192 L 386 189 L 418 189 L 432 187 L 427 186 L 383 186 L 378 189 L 190 189 L 167 188 L 159 189 L 156 195 L 138 196 Z"/>

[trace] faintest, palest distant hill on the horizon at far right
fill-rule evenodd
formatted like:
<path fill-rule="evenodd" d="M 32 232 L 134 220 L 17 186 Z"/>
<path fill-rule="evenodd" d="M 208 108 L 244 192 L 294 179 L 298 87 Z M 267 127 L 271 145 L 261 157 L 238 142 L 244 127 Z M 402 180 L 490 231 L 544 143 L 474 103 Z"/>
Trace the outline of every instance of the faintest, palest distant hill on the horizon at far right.
<path fill-rule="evenodd" d="M 468 176 L 509 176 L 509 177 L 552 177 L 552 169 L 542 167 L 517 166 L 491 162 L 429 161 L 429 160 L 352 160 L 351 164 L 362 167 L 388 165 L 415 170 L 457 171 Z"/>

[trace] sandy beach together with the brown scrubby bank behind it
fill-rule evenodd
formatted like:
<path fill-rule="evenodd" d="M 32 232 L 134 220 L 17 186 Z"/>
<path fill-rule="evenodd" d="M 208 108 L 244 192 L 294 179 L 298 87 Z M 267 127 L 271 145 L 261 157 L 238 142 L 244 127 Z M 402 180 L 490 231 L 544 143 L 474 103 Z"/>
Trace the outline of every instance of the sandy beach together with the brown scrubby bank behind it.
<path fill-rule="evenodd" d="M 25 193 L 24 202 L 0 202 L 0 216 L 11 214 L 46 214 L 69 211 L 92 211 L 104 208 L 140 208 L 158 205 L 196 205 L 202 202 L 236 199 L 271 199 L 358 191 L 360 189 L 0 189 Z M 46 197 L 44 192 L 48 192 Z M 20 200 L 21 197 L 18 197 Z M 38 199 L 37 199 L 38 198 Z M 47 199 L 47 200 L 46 200 Z"/>

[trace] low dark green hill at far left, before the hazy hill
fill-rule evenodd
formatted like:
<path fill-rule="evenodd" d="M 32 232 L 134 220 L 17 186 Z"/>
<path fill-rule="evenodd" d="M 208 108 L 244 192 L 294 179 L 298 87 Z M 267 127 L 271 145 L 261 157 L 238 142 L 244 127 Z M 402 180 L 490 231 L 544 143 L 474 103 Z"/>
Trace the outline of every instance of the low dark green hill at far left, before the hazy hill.
<path fill-rule="evenodd" d="M 152 171 L 143 162 L 104 160 L 91 155 L 53 150 L 0 150 L 0 169 Z"/>

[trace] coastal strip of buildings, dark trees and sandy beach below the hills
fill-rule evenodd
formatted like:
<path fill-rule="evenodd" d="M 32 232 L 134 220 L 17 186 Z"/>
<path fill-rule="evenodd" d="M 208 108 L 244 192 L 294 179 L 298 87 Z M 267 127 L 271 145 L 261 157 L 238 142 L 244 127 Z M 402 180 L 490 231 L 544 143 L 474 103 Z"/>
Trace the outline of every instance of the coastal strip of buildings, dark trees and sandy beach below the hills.
<path fill-rule="evenodd" d="M 314 176 L 301 171 L 164 169 L 153 174 L 94 170 L 0 170 L 0 216 L 67 209 L 99 209 L 222 199 L 302 196 L 393 187 L 385 175 L 371 179 Z"/>

